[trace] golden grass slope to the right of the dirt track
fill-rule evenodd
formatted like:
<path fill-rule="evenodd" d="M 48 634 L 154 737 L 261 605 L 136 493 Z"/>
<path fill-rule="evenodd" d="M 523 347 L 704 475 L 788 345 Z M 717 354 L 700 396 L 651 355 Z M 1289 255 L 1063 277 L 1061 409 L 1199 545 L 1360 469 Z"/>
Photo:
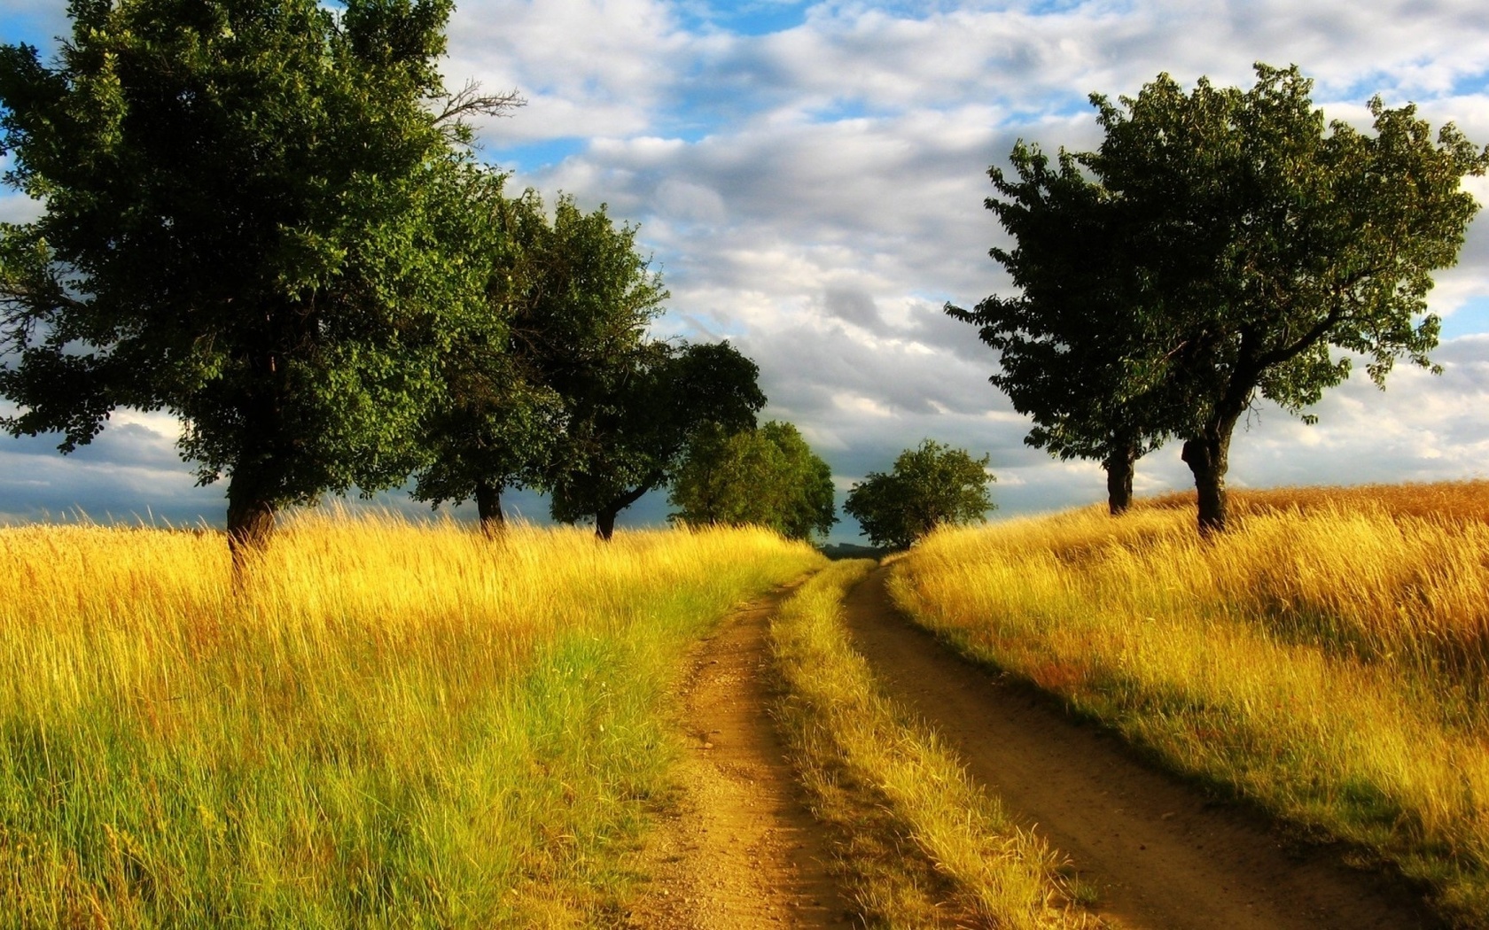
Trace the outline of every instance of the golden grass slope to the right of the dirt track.
<path fill-rule="evenodd" d="M 1233 493 L 946 531 L 895 600 L 1166 765 L 1489 927 L 1489 482 Z"/>

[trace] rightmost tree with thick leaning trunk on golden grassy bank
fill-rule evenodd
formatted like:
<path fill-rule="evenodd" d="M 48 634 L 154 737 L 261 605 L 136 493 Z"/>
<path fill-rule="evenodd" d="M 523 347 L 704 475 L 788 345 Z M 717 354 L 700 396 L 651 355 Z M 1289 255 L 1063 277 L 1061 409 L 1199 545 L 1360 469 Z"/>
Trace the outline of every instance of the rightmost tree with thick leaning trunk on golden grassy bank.
<path fill-rule="evenodd" d="M 1434 143 L 1415 107 L 1379 97 L 1373 135 L 1325 129 L 1310 91 L 1297 67 L 1258 64 L 1249 91 L 1160 74 L 1120 106 L 1091 97 L 1106 137 L 1080 159 L 1121 205 L 1142 305 L 1161 314 L 1150 357 L 1185 399 L 1169 426 L 1202 533 L 1225 528 L 1231 433 L 1257 396 L 1301 412 L 1352 354 L 1382 387 L 1398 359 L 1429 365 L 1431 272 L 1456 263 L 1479 208 L 1461 182 L 1489 167 L 1452 124 Z"/>

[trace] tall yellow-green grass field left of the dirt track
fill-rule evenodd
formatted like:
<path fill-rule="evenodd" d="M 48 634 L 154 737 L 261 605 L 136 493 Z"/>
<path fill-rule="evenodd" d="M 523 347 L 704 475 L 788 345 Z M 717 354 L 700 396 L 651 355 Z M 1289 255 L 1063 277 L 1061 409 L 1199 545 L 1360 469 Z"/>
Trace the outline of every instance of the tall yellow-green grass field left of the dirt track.
<path fill-rule="evenodd" d="M 820 562 L 752 531 L 0 531 L 0 924 L 608 923 L 686 644 Z"/>

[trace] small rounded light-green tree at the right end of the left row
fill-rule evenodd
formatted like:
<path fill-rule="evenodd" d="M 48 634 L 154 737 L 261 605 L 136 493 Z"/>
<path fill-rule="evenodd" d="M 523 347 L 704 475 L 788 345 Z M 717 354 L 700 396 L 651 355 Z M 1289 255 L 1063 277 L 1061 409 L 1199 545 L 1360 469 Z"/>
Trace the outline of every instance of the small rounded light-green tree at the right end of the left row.
<path fill-rule="evenodd" d="M 832 469 L 789 423 L 727 433 L 710 426 L 688 443 L 669 496 L 689 525 L 770 527 L 788 539 L 826 534 L 837 522 Z"/>

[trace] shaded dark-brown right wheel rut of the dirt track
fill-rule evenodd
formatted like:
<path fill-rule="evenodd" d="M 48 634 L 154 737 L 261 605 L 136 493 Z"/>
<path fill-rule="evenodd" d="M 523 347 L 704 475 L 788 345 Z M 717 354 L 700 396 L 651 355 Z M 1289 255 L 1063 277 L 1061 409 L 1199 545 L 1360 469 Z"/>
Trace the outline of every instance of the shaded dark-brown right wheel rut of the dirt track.
<path fill-rule="evenodd" d="M 1152 930 L 1440 926 L 1398 884 L 1208 804 L 1118 740 L 962 661 L 895 610 L 886 574 L 877 570 L 846 600 L 855 647 L 895 698 L 960 751 L 974 778 L 1075 862 L 1112 923 Z"/>

